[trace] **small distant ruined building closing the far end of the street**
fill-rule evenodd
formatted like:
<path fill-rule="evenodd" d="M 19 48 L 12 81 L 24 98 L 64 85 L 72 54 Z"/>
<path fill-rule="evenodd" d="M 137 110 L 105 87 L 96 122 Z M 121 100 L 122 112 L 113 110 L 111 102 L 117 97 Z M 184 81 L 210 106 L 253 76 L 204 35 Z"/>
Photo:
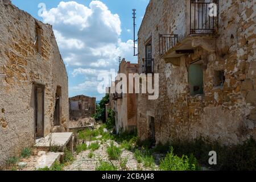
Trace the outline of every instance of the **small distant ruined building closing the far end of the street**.
<path fill-rule="evenodd" d="M 69 98 L 69 119 L 77 120 L 90 118 L 96 113 L 96 98 L 88 96 L 75 96 Z"/>

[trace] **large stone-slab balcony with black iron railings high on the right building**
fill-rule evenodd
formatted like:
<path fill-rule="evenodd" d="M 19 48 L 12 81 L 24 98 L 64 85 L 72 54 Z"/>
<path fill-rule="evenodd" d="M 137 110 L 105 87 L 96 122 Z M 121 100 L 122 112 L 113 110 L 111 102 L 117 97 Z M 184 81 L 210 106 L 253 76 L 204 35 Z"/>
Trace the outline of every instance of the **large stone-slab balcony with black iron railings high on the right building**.
<path fill-rule="evenodd" d="M 194 54 L 198 59 L 199 49 L 203 48 L 208 53 L 214 53 L 216 49 L 216 35 L 218 32 L 218 0 L 191 0 L 189 10 L 190 19 L 188 34 L 178 40 L 176 34 L 159 35 L 159 56 L 166 63 L 180 65 L 180 57 Z M 184 37 L 184 35 L 183 35 Z"/>

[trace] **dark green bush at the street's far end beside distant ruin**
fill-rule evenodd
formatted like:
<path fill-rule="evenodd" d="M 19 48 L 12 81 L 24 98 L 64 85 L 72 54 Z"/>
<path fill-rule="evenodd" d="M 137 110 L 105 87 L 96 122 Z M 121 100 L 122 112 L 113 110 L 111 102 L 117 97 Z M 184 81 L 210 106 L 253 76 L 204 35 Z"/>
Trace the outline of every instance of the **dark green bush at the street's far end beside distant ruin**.
<path fill-rule="evenodd" d="M 105 105 L 109 103 L 109 95 L 107 94 L 105 97 L 102 98 L 99 104 L 96 105 L 96 114 L 93 115 L 93 118 L 96 121 L 105 121 Z"/>

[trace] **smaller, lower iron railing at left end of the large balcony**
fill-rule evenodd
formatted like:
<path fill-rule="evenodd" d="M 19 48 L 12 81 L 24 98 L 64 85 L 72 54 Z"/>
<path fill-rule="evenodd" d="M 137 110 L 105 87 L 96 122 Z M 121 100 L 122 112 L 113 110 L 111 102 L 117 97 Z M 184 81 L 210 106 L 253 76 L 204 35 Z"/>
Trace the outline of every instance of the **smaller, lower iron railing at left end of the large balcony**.
<path fill-rule="evenodd" d="M 159 54 L 163 56 L 178 42 L 177 34 L 159 34 Z"/>

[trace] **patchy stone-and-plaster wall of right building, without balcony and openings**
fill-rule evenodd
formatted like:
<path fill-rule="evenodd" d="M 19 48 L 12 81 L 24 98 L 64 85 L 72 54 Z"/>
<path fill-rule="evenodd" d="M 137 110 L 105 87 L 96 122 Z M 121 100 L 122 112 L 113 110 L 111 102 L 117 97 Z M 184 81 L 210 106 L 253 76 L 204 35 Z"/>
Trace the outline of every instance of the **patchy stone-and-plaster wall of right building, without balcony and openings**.
<path fill-rule="evenodd" d="M 204 69 L 204 94 L 191 96 L 186 56 L 180 66 L 159 57 L 159 34 L 188 35 L 189 1 L 151 0 L 138 38 L 138 62 L 145 58 L 145 43 L 152 38 L 155 73 L 159 73 L 159 98 L 138 94 L 138 135 L 148 138 L 148 117 L 155 117 L 157 142 L 194 139 L 203 135 L 223 144 L 256 138 L 256 2 L 219 1 L 216 53 L 208 55 Z M 214 44 L 214 42 L 213 42 Z M 199 48 L 200 49 L 200 48 Z M 213 58 L 212 58 L 213 57 Z M 213 85 L 214 71 L 225 71 L 223 88 Z"/>

